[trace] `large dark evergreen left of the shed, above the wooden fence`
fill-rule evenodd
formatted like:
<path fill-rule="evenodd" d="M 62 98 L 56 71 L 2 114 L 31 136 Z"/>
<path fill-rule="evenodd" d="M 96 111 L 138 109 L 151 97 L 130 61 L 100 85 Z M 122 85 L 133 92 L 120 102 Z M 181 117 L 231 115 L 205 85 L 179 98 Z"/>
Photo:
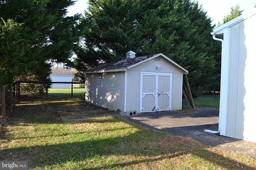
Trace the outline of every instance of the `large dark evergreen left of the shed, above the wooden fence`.
<path fill-rule="evenodd" d="M 9 67 L 18 67 L 18 73 L 9 77 L 8 82 L 28 75 L 44 81 L 50 74 L 48 61 L 65 62 L 72 56 L 79 40 L 75 26 L 79 16 L 66 17 L 66 9 L 72 4 L 72 0 L 0 0 L 3 21 L 11 19 L 21 24 L 16 34 L 22 53 L 5 54 L 9 60 L 14 55 L 19 58 L 16 63 L 9 63 Z M 14 41 L 9 43 L 12 48 L 15 45 Z M 0 54 L 2 57 L 3 51 Z"/>

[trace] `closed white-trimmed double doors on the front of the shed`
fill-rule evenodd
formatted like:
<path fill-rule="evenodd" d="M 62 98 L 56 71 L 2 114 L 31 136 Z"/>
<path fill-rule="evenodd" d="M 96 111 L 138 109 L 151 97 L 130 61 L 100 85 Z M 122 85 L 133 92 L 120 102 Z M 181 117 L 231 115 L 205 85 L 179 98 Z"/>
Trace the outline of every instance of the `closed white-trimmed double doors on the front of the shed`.
<path fill-rule="evenodd" d="M 171 109 L 172 74 L 140 73 L 140 112 Z"/>

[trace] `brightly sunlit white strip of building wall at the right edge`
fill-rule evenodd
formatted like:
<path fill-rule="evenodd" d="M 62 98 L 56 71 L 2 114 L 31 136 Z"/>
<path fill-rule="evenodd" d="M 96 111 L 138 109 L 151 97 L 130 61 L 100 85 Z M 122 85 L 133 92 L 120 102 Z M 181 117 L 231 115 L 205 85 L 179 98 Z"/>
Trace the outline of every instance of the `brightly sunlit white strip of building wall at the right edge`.
<path fill-rule="evenodd" d="M 244 21 L 245 47 L 247 58 L 245 59 L 244 69 L 244 140 L 256 142 L 256 113 L 255 113 L 255 40 L 256 40 L 256 13 L 254 16 Z"/>

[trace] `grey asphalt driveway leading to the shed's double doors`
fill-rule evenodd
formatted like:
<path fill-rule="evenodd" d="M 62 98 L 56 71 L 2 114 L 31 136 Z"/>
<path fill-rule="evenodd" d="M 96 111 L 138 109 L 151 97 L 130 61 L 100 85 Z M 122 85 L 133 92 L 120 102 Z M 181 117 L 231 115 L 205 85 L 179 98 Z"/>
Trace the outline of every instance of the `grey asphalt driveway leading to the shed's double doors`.
<path fill-rule="evenodd" d="M 256 158 L 256 143 L 205 132 L 218 131 L 219 110 L 198 108 L 197 113 L 161 111 L 125 117 L 128 121 L 149 129 L 168 132 L 174 136 L 188 137 L 210 147 L 230 150 Z"/>

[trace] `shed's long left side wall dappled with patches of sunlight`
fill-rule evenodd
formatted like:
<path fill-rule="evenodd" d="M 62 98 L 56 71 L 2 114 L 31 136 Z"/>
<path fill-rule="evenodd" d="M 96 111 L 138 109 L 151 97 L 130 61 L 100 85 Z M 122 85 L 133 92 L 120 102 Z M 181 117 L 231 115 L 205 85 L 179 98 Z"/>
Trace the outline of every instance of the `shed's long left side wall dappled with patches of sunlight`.
<path fill-rule="evenodd" d="M 86 74 L 85 101 L 109 110 L 124 110 L 125 72 Z"/>

